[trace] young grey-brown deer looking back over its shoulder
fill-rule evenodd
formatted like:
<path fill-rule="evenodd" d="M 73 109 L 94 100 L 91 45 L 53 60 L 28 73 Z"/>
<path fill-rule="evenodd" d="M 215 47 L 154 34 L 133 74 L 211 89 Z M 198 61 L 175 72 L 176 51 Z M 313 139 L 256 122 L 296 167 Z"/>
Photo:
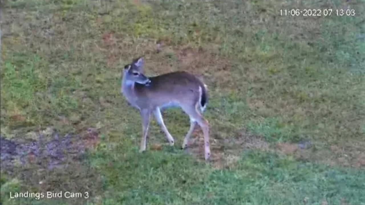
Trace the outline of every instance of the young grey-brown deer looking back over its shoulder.
<path fill-rule="evenodd" d="M 161 110 L 168 107 L 181 107 L 190 117 L 190 129 L 185 136 L 183 148 L 187 147 L 197 123 L 203 130 L 204 156 L 205 160 L 208 160 L 210 157 L 209 124 L 202 115 L 208 102 L 206 85 L 197 77 L 184 71 L 146 77 L 143 74 L 143 64 L 141 57 L 124 67 L 121 89 L 127 101 L 141 113 L 143 133 L 140 152 L 146 150 L 151 113 L 165 132 L 169 144 L 174 145 L 174 139 L 162 119 Z"/>

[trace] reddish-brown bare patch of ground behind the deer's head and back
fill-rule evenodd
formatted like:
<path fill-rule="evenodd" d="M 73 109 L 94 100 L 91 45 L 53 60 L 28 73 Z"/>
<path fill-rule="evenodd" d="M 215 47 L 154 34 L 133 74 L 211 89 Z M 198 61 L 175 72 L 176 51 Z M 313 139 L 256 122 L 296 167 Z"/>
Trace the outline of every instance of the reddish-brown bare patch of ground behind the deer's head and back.
<path fill-rule="evenodd" d="M 118 66 L 120 60 L 130 63 L 132 59 L 143 56 L 147 76 L 184 70 L 220 88 L 234 86 L 232 62 L 220 57 L 216 49 L 173 46 L 161 40 L 133 40 L 114 32 L 104 32 L 95 49 L 104 54 L 105 63 L 110 68 Z"/>

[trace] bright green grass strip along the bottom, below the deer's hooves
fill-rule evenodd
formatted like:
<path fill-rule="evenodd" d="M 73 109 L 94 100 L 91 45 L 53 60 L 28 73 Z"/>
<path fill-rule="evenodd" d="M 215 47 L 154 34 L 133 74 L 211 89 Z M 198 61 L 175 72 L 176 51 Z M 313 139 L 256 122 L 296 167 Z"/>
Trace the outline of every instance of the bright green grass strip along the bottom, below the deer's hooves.
<path fill-rule="evenodd" d="M 113 164 L 99 165 L 109 169 L 105 204 L 301 204 L 306 197 L 309 204 L 324 200 L 341 204 L 342 198 L 361 204 L 365 200 L 361 194 L 365 175 L 359 170 L 253 151 L 244 153 L 230 170 L 211 170 L 183 154 L 153 152 L 138 160 L 135 154 L 106 155 Z"/>

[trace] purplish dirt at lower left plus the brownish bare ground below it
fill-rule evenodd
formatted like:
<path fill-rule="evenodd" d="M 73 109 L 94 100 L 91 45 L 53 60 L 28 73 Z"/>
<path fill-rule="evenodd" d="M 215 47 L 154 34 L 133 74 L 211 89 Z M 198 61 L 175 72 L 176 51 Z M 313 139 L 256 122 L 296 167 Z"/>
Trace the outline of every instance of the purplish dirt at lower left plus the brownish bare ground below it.
<path fill-rule="evenodd" d="M 95 128 L 86 128 L 78 135 L 61 136 L 47 128 L 31 132 L 25 138 L 0 136 L 1 173 L 19 179 L 24 192 L 67 190 L 97 196 L 102 184 L 100 174 L 88 165 L 85 154 L 97 146 L 99 140 Z M 67 202 L 80 204 L 82 200 L 74 198 Z"/>

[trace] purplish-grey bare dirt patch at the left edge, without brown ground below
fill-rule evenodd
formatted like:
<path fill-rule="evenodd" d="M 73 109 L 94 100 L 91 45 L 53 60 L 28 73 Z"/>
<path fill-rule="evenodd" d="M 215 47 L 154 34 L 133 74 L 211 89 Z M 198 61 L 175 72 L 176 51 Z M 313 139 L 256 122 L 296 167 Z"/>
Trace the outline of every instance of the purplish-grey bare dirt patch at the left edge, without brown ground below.
<path fill-rule="evenodd" d="M 28 134 L 32 136 L 28 142 L 0 137 L 2 171 L 11 173 L 14 166 L 25 165 L 39 165 L 49 170 L 59 168 L 65 165 L 67 159 L 81 159 L 87 149 L 94 148 L 100 141 L 95 128 L 87 128 L 80 135 L 59 136 L 51 128 Z"/>

